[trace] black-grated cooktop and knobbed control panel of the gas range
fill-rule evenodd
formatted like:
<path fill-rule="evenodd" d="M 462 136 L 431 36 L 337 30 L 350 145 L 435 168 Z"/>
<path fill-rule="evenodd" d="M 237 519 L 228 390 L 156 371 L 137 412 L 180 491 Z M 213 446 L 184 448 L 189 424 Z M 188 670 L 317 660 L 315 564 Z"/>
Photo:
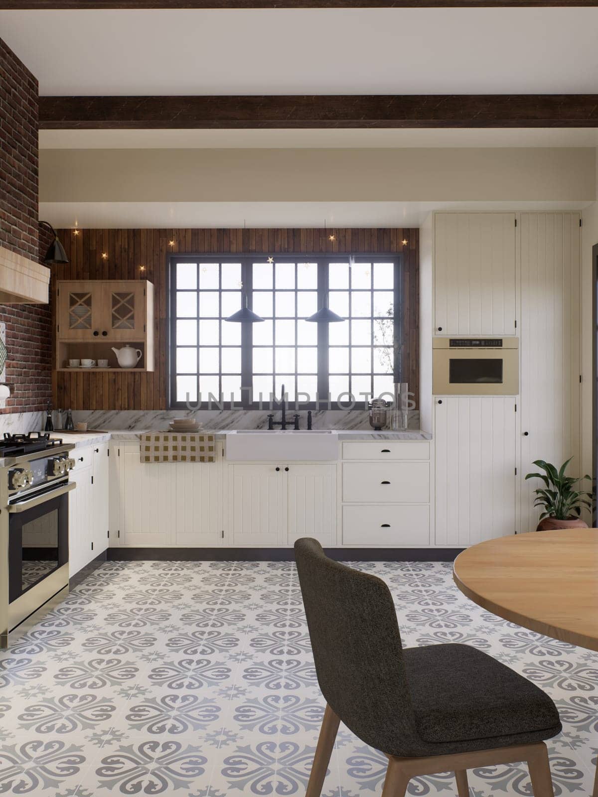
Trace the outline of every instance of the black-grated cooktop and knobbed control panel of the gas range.
<path fill-rule="evenodd" d="M 49 434 L 5 434 L 0 440 L 0 479 L 9 498 L 15 493 L 39 489 L 50 482 L 68 477 L 75 461 L 69 457 L 73 443 L 50 438 Z"/>

